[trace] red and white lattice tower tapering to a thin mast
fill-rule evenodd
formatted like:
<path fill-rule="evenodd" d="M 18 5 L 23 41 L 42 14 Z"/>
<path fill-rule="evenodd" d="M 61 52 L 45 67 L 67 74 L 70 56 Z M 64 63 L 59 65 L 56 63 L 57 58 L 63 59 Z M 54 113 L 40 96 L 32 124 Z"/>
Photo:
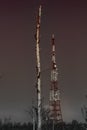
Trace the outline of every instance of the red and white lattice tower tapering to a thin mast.
<path fill-rule="evenodd" d="M 55 57 L 55 40 L 52 35 L 52 68 L 51 68 L 51 88 L 50 88 L 50 119 L 55 122 L 62 122 L 62 112 L 60 105 L 60 90 L 58 86 L 58 69 Z"/>

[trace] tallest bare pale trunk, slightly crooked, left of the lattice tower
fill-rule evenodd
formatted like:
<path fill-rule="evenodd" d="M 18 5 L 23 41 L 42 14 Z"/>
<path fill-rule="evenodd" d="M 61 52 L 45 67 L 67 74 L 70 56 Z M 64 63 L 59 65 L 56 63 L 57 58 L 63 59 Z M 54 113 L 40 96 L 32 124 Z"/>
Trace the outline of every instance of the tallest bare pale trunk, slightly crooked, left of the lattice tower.
<path fill-rule="evenodd" d="M 37 72 L 37 130 L 41 130 L 41 64 L 40 64 L 40 23 L 41 5 L 39 7 L 36 23 L 36 72 Z"/>

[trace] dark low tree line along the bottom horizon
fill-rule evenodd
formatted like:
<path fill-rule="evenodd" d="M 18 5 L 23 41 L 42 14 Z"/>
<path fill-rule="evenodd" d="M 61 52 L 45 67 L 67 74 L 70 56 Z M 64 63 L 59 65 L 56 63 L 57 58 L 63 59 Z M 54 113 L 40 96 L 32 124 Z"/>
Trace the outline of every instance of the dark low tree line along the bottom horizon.
<path fill-rule="evenodd" d="M 54 127 L 54 128 L 53 128 Z M 86 130 L 87 124 L 81 123 L 76 120 L 73 120 L 70 123 L 55 123 L 53 122 L 45 122 L 42 125 L 42 130 Z M 33 124 L 31 122 L 28 123 L 12 123 L 11 121 L 4 122 L 0 121 L 0 130 L 33 130 Z M 37 125 L 35 130 L 37 130 Z"/>

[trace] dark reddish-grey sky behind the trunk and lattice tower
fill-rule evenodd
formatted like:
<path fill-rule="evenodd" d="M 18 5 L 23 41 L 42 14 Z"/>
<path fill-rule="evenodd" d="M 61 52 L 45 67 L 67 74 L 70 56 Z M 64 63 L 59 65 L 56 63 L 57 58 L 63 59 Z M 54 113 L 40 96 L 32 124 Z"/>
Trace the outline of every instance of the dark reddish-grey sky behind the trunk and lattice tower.
<path fill-rule="evenodd" d="M 84 121 L 87 101 L 87 2 L 15 0 L 0 2 L 0 118 L 28 121 L 35 100 L 35 15 L 42 3 L 41 66 L 45 105 L 49 99 L 51 34 L 55 34 L 64 121 Z M 45 57 L 45 58 L 44 58 Z"/>

